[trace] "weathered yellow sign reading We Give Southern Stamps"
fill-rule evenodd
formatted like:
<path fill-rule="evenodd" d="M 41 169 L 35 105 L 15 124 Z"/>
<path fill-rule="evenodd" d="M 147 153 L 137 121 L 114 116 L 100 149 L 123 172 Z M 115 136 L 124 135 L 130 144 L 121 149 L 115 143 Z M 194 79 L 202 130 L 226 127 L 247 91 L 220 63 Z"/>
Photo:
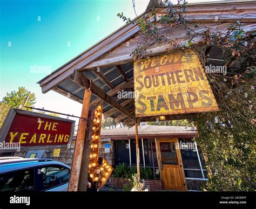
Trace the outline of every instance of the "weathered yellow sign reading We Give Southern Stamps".
<path fill-rule="evenodd" d="M 134 91 L 137 117 L 219 110 L 192 50 L 134 62 Z"/>

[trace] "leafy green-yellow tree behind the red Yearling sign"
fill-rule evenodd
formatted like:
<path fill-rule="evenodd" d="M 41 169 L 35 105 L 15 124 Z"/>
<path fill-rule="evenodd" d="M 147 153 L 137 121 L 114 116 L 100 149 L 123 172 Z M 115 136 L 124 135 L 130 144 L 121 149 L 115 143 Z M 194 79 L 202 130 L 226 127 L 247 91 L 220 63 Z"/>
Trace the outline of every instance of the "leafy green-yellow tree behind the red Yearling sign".
<path fill-rule="evenodd" d="M 26 100 L 26 97 L 29 94 L 29 90 L 25 87 L 19 87 L 18 91 L 14 90 L 11 93 L 7 93 L 6 96 L 3 97 L 3 100 L 0 104 L 0 128 L 2 127 L 3 121 L 11 108 L 19 108 L 22 106 Z M 26 106 L 32 107 L 36 103 L 36 95 L 35 93 L 31 93 L 29 96 L 28 102 L 26 102 Z M 29 108 L 24 108 L 25 110 L 31 110 Z"/>

